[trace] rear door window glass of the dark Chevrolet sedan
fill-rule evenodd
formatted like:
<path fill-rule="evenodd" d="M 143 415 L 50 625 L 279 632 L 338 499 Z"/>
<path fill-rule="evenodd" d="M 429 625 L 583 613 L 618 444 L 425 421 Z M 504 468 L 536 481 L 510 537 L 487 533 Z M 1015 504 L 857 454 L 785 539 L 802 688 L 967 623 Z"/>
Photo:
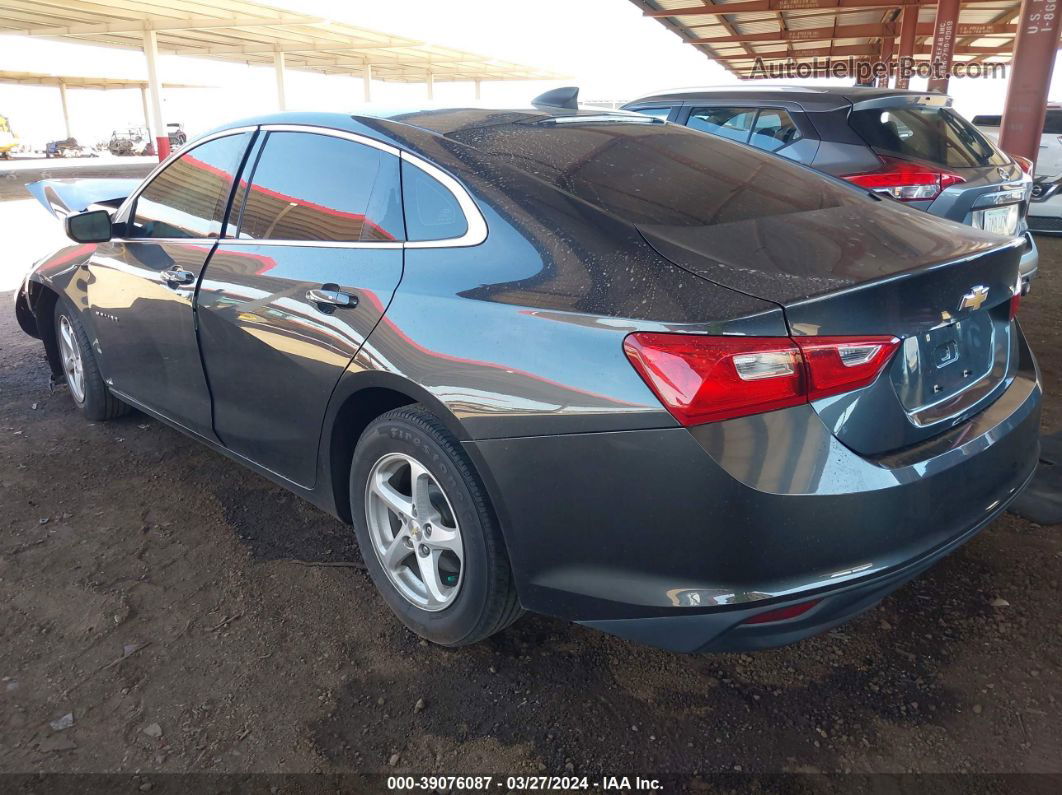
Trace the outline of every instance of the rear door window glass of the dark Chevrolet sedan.
<path fill-rule="evenodd" d="M 240 240 L 401 240 L 398 158 L 345 138 L 271 132 L 238 212 Z"/>

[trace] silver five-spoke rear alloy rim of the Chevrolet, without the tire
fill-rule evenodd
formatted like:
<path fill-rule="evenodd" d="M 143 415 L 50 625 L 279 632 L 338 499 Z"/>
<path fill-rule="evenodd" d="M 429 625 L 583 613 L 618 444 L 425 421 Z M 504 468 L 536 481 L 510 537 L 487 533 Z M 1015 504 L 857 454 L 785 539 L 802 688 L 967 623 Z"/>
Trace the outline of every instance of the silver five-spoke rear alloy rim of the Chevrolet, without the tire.
<path fill-rule="evenodd" d="M 461 590 L 464 545 L 449 498 L 416 459 L 388 453 L 365 484 L 373 551 L 406 601 L 435 612 Z"/>

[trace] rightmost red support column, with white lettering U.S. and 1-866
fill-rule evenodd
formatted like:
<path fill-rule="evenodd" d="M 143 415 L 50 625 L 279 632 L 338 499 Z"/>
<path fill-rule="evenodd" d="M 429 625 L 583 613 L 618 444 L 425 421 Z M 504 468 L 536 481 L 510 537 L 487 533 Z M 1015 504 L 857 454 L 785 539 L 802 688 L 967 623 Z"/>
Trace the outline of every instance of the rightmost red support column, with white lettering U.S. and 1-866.
<path fill-rule="evenodd" d="M 999 146 L 1035 162 L 1059 45 L 1059 0 L 1023 0 Z"/>

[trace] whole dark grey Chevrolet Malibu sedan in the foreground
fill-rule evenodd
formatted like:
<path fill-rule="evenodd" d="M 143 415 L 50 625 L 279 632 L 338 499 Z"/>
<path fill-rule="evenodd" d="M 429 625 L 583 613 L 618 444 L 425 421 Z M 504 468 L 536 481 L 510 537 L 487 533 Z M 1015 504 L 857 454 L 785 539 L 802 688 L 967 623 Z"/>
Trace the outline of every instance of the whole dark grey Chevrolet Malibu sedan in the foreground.
<path fill-rule="evenodd" d="M 1035 466 L 1021 240 L 646 116 L 284 114 L 31 190 L 73 244 L 16 312 L 85 416 L 352 524 L 444 645 L 792 642 Z"/>

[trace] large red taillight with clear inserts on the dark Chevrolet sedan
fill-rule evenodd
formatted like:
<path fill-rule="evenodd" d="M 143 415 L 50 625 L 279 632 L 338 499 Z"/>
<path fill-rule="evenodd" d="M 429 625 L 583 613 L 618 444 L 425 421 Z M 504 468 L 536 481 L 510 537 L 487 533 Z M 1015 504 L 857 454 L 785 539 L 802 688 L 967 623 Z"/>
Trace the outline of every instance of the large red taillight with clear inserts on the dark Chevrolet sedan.
<path fill-rule="evenodd" d="M 892 336 L 704 336 L 634 333 L 623 351 L 683 426 L 786 409 L 870 384 Z"/>

